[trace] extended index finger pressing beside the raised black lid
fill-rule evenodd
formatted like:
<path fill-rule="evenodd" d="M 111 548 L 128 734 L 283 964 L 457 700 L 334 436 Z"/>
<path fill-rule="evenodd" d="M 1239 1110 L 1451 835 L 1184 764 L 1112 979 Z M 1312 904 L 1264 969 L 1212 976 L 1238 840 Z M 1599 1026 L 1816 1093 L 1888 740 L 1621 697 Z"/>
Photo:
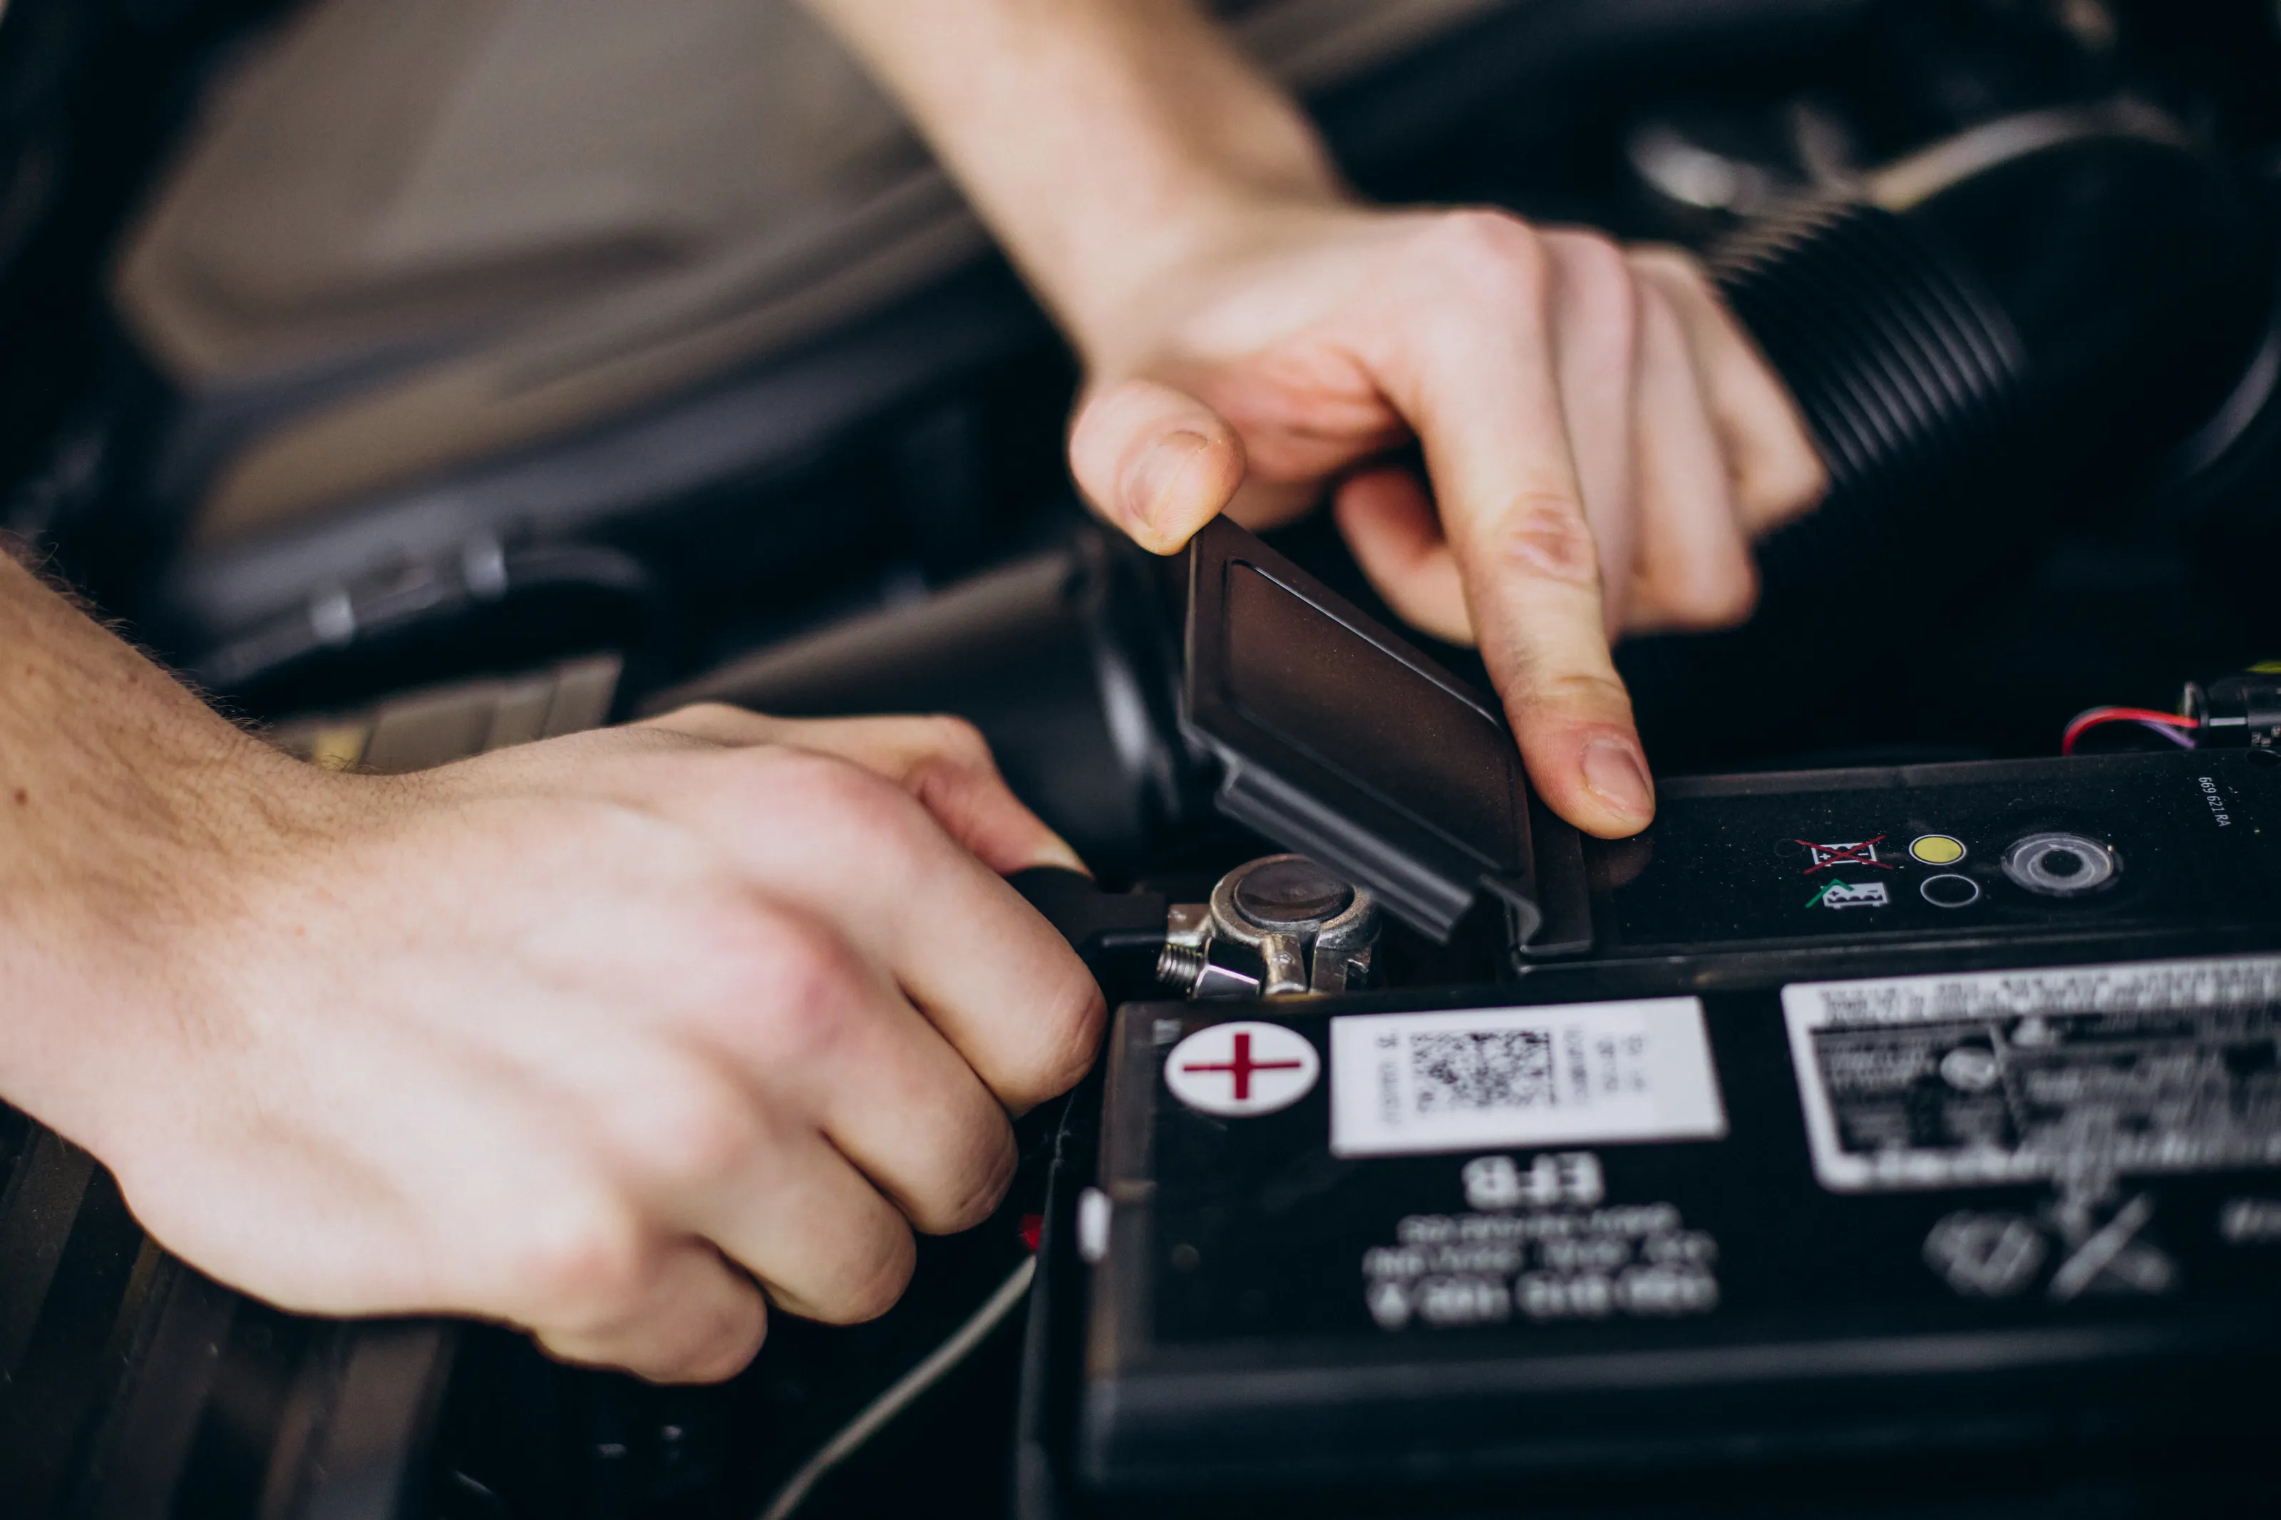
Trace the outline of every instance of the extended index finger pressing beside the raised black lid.
<path fill-rule="evenodd" d="M 1444 216 L 1359 335 L 1426 449 L 1442 522 L 1528 777 L 1576 827 L 1647 827 L 1654 788 L 1608 649 L 1599 554 L 1560 399 L 1556 273 L 1524 223 Z"/>

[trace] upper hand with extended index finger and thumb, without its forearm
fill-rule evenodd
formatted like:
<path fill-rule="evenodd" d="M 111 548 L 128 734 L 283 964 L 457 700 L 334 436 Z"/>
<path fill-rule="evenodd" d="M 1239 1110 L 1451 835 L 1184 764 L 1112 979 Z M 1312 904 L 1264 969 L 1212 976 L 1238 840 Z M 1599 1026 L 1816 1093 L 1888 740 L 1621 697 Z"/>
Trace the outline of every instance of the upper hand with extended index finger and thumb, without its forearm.
<path fill-rule="evenodd" d="M 1740 622 L 1750 542 L 1825 479 L 1702 269 L 1503 212 L 1332 203 L 1227 216 L 1145 296 L 1070 303 L 1079 488 L 1172 551 L 1213 513 L 1334 497 L 1394 611 L 1478 643 L 1531 779 L 1601 836 L 1654 786 L 1622 634 Z M 1380 463 L 1423 447 L 1428 485 Z"/>

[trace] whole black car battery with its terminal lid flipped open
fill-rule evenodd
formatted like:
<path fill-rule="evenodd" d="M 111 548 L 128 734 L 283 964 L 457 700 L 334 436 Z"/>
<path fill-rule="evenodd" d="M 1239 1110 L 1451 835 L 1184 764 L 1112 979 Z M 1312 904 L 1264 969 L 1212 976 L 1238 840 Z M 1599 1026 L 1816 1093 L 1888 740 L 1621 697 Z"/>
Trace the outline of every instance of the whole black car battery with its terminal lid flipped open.
<path fill-rule="evenodd" d="M 1647 834 L 1578 839 L 1494 711 L 1362 613 L 1234 529 L 1195 574 L 1191 732 L 1307 857 L 1170 909 L 1202 996 L 1120 1007 L 1072 1105 L 1029 1513 L 1702 1513 L 1736 1472 L 1861 1497 L 2028 1452 L 2256 1463 L 2281 766 L 1681 779 Z M 1494 973 L 1357 991 L 1330 927 L 1357 902 L 1496 941 Z"/>

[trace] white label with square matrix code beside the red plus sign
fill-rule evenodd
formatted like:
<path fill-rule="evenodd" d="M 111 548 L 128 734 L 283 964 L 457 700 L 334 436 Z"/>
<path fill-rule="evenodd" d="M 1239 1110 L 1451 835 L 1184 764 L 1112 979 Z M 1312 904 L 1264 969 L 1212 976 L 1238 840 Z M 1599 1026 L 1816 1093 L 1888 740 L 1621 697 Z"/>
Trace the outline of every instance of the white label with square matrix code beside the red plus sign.
<path fill-rule="evenodd" d="M 1332 1155 L 1724 1133 L 1697 998 L 1330 1021 Z"/>

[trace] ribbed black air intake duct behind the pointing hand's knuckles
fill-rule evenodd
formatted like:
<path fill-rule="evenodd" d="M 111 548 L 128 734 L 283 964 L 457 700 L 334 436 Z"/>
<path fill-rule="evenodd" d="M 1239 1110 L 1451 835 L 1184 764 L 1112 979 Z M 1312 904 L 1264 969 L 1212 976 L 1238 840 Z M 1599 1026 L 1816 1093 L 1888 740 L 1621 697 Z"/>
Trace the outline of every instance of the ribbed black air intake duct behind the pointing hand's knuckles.
<path fill-rule="evenodd" d="M 2242 383 L 2274 305 L 2260 207 L 2124 107 L 1989 123 L 1743 230 L 1713 269 L 1832 481 L 1763 545 L 1770 618 L 1927 549 L 1996 565 L 2149 481 Z"/>

